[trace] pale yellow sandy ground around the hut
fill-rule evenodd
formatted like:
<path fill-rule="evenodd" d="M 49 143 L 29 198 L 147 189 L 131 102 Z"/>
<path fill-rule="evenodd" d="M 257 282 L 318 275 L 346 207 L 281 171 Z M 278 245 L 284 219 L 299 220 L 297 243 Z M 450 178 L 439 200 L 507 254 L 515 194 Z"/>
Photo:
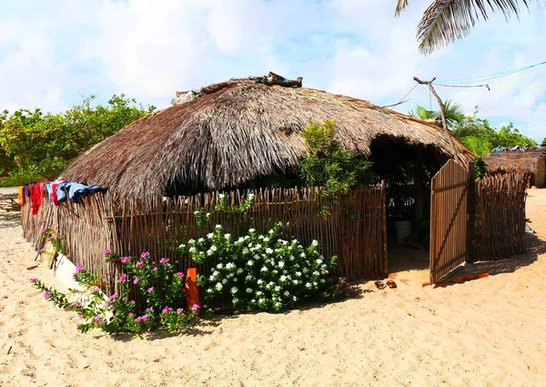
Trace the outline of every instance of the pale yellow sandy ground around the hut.
<path fill-rule="evenodd" d="M 546 189 L 528 216 L 546 240 Z M 30 286 L 18 213 L 0 212 L 2 386 L 544 386 L 546 245 L 444 288 L 360 286 L 359 297 L 286 314 L 240 315 L 177 337 L 80 334 L 76 315 Z M 6 354 L 11 348 L 9 354 Z"/>

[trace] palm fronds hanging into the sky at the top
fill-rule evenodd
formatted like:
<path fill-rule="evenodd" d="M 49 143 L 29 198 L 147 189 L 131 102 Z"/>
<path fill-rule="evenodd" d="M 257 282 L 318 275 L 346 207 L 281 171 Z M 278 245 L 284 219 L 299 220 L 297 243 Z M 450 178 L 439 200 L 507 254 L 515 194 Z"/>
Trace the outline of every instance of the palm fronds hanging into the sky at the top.
<path fill-rule="evenodd" d="M 398 16 L 409 0 L 397 0 Z M 488 13 L 501 11 L 508 18 L 520 15 L 521 3 L 529 8 L 531 0 L 433 0 L 420 19 L 417 39 L 421 53 L 430 54 L 437 48 L 470 34 L 470 30 Z"/>

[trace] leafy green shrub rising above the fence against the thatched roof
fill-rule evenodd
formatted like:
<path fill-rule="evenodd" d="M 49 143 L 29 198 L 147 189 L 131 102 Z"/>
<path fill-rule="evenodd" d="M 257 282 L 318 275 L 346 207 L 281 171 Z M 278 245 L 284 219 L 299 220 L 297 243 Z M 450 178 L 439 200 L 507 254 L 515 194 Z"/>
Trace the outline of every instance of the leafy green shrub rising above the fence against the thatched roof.
<path fill-rule="evenodd" d="M 326 195 L 334 198 L 349 189 L 367 186 L 373 175 L 371 162 L 341 148 L 334 139 L 335 122 L 309 124 L 302 130 L 310 154 L 299 164 L 302 179 L 310 187 L 324 187 Z"/>

